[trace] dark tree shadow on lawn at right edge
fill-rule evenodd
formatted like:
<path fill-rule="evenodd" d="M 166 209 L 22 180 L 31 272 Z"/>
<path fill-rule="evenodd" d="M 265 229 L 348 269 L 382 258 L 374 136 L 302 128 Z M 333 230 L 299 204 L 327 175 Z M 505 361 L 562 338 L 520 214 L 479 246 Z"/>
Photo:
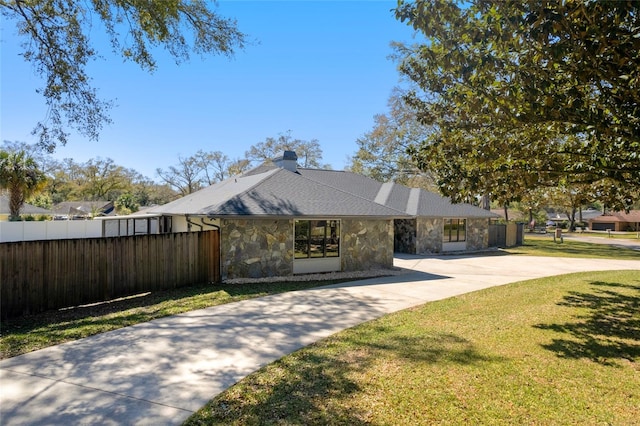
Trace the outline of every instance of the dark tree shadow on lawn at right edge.
<path fill-rule="evenodd" d="M 638 281 L 640 283 L 640 281 Z M 545 349 L 563 358 L 585 358 L 602 365 L 640 360 L 640 285 L 592 282 L 592 292 L 570 292 L 560 306 L 576 308 L 576 321 L 535 327 L 566 335 Z"/>

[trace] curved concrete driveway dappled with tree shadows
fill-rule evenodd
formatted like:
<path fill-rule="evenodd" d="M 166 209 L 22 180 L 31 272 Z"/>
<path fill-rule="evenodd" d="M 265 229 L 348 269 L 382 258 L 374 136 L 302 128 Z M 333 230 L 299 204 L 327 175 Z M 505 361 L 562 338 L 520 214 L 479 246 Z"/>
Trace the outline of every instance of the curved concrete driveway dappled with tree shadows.
<path fill-rule="evenodd" d="M 1 361 L 0 424 L 176 425 L 261 366 L 387 313 L 529 278 L 640 271 L 640 256 L 403 256 L 395 263 L 407 273 L 193 311 Z"/>

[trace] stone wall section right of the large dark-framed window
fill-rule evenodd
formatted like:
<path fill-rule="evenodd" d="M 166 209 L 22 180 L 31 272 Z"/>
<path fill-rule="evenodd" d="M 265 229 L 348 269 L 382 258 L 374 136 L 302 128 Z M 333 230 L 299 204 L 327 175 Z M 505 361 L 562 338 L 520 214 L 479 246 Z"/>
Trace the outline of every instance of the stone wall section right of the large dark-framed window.
<path fill-rule="evenodd" d="M 393 267 L 393 220 L 342 219 L 343 271 Z"/>

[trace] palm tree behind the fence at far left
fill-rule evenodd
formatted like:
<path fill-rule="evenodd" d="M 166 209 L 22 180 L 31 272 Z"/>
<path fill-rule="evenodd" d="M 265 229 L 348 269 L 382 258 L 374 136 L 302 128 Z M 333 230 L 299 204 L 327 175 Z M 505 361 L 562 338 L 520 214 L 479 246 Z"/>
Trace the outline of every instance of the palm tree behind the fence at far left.
<path fill-rule="evenodd" d="M 25 200 L 42 189 L 46 180 L 24 151 L 0 150 L 0 188 L 9 191 L 9 220 L 19 220 Z"/>

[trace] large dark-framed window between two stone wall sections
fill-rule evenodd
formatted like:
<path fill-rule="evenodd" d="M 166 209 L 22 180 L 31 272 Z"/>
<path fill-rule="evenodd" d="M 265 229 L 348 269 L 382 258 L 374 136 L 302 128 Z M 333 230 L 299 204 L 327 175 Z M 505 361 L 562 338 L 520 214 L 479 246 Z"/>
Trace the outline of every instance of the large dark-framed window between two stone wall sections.
<path fill-rule="evenodd" d="M 340 256 L 339 220 L 296 220 L 296 259 L 338 256 Z"/>

